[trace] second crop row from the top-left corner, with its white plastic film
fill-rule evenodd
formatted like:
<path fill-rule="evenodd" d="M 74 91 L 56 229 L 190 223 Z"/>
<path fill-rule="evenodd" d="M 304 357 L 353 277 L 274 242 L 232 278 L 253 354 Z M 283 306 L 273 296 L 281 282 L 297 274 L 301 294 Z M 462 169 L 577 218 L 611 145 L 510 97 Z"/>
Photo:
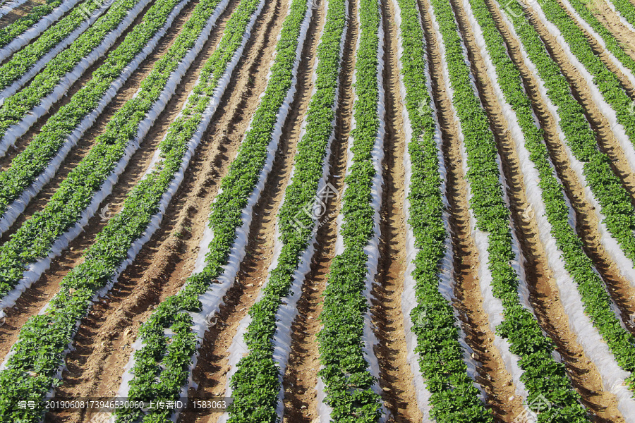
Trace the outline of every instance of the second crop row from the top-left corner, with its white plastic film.
<path fill-rule="evenodd" d="M 97 9 L 100 6 L 93 0 L 85 0 L 73 8 L 68 16 L 44 31 L 35 42 L 13 54 L 9 61 L 0 66 L 0 97 L 9 97 L 15 93 L 21 85 L 40 71 L 50 58 L 73 42 L 98 18 Z M 105 8 L 101 11 L 104 10 Z M 86 13 L 92 14 L 90 19 Z"/>

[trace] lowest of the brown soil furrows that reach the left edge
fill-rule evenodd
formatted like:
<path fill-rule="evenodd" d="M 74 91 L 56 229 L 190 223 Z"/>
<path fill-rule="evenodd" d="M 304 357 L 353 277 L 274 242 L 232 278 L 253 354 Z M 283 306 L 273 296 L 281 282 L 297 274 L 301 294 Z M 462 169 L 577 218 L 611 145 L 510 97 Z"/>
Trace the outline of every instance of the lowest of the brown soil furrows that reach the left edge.
<path fill-rule="evenodd" d="M 234 0 L 231 4 L 232 6 L 229 7 L 228 10 L 233 10 L 237 2 L 238 0 Z M 183 20 L 180 20 L 179 24 L 182 25 L 186 22 L 186 16 L 182 17 Z M 183 104 L 183 101 L 186 98 L 188 92 L 191 90 L 196 79 L 198 78 L 198 73 L 200 73 L 200 69 L 204 65 L 205 60 L 213 53 L 216 45 L 222 37 L 222 29 L 224 28 L 224 24 L 227 19 L 229 19 L 228 11 L 226 11 L 221 16 L 221 18 L 219 18 L 219 23 L 217 27 L 212 30 L 212 35 L 203 47 L 201 54 L 197 59 L 195 59 L 188 73 L 184 75 L 183 80 L 181 81 L 182 85 L 179 86 L 179 90 L 177 90 L 171 102 L 166 107 L 166 111 L 164 111 L 164 114 L 162 114 L 162 116 L 159 116 L 159 118 L 157 119 L 157 122 L 160 122 L 160 125 L 155 125 L 155 128 L 152 128 L 150 130 L 150 133 L 146 137 L 146 142 L 150 141 L 148 143 L 156 144 L 163 136 L 163 133 L 167 129 L 167 126 L 172 121 L 173 115 L 176 116 L 176 113 L 178 113 L 181 108 L 180 105 Z M 167 49 L 167 46 L 164 46 L 164 48 Z M 158 54 L 155 59 L 158 59 L 159 57 L 160 54 Z M 152 68 L 152 63 L 147 63 L 147 65 Z M 143 80 L 143 78 L 139 77 L 138 82 L 140 83 L 141 80 Z M 134 93 L 137 87 L 133 86 L 130 89 Z M 164 120 L 162 120 L 162 118 Z M 135 159 L 138 157 L 138 154 L 135 154 L 131 158 L 131 165 L 138 168 L 137 173 L 139 173 L 139 171 L 145 171 L 145 167 L 143 167 L 143 164 L 150 160 L 150 157 L 152 157 L 152 151 L 145 154 L 145 156 L 146 157 L 143 157 L 143 161 L 138 164 L 135 163 Z M 137 173 L 135 173 L 135 177 L 140 176 Z M 107 197 L 106 200 L 104 200 L 104 204 L 110 204 L 111 207 L 109 207 L 109 209 L 107 210 L 104 210 L 102 208 L 101 215 L 97 214 L 92 219 L 90 219 L 90 221 L 85 226 L 85 232 L 81 233 L 78 238 L 75 238 L 75 240 L 71 242 L 69 247 L 64 250 L 59 257 L 52 259 L 50 269 L 44 272 L 40 280 L 34 283 L 28 290 L 25 291 L 25 293 L 23 293 L 23 295 L 16 303 L 15 307 L 6 310 L 7 324 L 2 326 L 0 329 L 0 341 L 2 345 L 2 347 L 0 348 L 0 354 L 6 354 L 8 348 L 10 348 L 15 341 L 20 327 L 32 314 L 37 314 L 37 312 L 44 306 L 44 304 L 46 304 L 46 302 L 48 302 L 50 298 L 52 298 L 52 296 L 59 290 L 59 283 L 61 282 L 62 278 L 66 276 L 66 273 L 68 273 L 68 271 L 70 271 L 76 264 L 78 264 L 80 260 L 82 260 L 81 256 L 84 250 L 92 245 L 93 241 L 95 240 L 95 235 L 97 235 L 97 233 L 99 233 L 99 231 L 101 231 L 102 228 L 107 224 L 109 217 L 114 214 L 114 212 L 119 211 L 119 208 L 121 207 L 121 205 L 123 204 L 123 200 L 125 199 L 126 193 L 132 188 L 132 185 L 135 182 L 132 179 L 126 180 L 126 175 L 128 175 L 128 171 L 125 171 L 119 178 L 119 184 L 115 186 L 114 194 L 110 195 L 109 197 Z M 121 186 L 121 183 L 125 184 L 123 188 Z M 174 202 L 176 202 L 176 200 L 173 200 L 173 204 Z"/>

